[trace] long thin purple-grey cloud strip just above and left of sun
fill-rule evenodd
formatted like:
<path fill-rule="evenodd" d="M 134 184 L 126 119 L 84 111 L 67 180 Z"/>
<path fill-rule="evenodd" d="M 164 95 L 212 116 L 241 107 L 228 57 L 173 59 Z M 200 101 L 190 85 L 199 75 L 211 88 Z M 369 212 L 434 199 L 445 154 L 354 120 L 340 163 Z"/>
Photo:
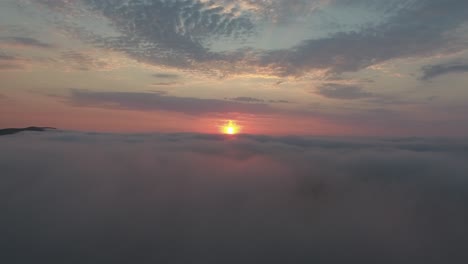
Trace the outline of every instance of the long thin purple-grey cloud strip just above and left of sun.
<path fill-rule="evenodd" d="M 190 115 L 210 113 L 271 114 L 277 112 L 276 109 L 267 104 L 176 97 L 164 93 L 94 92 L 74 89 L 71 91 L 69 102 L 78 106 L 173 111 Z"/>

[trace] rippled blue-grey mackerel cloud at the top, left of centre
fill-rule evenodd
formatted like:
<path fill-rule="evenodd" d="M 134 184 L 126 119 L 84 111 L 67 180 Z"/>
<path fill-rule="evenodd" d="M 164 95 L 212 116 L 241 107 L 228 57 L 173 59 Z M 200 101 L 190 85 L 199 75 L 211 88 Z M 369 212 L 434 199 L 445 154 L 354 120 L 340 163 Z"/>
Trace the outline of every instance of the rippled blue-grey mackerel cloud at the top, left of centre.
<path fill-rule="evenodd" d="M 104 47 L 124 51 L 143 61 L 189 67 L 191 60 L 208 60 L 205 42 L 239 37 L 251 31 L 247 17 L 236 17 L 214 2 L 85 1 L 110 19 L 121 37 L 96 39 Z"/>

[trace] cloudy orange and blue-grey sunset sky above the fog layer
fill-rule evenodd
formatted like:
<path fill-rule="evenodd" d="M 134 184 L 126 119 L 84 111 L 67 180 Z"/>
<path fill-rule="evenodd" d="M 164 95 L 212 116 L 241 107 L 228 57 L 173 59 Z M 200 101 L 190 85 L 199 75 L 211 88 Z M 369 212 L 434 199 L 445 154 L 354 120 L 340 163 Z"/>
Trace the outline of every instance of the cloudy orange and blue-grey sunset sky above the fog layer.
<path fill-rule="evenodd" d="M 466 136 L 465 0 L 2 0 L 0 127 Z"/>

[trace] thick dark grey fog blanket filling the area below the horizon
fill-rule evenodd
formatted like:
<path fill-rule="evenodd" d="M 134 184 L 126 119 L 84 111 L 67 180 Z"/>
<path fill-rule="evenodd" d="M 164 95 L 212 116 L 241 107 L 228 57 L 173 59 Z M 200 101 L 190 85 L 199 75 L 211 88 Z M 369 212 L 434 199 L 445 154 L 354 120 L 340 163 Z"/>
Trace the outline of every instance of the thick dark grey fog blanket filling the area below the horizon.
<path fill-rule="evenodd" d="M 464 140 L 63 131 L 0 140 L 9 263 L 468 259 Z"/>

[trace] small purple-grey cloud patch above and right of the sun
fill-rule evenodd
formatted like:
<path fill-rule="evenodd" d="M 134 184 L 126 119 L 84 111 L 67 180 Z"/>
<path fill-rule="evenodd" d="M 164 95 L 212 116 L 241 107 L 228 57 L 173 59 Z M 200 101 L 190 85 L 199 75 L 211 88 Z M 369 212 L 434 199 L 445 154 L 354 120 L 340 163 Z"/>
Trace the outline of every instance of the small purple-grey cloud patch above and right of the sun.
<path fill-rule="evenodd" d="M 329 83 L 318 88 L 318 94 L 332 99 L 362 99 L 374 97 L 361 87 Z"/>

